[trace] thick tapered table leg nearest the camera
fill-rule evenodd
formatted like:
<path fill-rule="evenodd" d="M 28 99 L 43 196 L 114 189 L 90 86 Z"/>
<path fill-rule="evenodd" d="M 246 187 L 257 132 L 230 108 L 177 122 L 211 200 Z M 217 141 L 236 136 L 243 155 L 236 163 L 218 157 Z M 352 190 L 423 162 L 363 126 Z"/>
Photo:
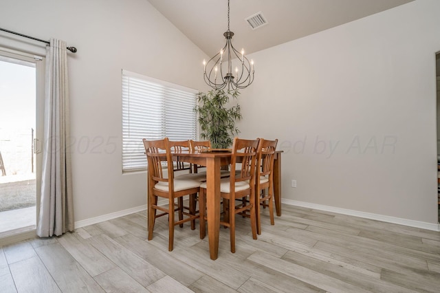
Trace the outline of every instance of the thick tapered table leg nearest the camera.
<path fill-rule="evenodd" d="M 212 260 L 219 254 L 220 158 L 206 158 L 206 209 L 209 252 Z"/>

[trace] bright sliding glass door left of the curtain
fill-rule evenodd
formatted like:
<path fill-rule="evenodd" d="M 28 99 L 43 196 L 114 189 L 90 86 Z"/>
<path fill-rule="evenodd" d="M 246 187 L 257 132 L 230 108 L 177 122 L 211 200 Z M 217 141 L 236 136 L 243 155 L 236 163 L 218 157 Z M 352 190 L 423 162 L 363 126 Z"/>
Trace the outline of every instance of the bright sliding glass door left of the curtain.
<path fill-rule="evenodd" d="M 0 48 L 0 240 L 36 227 L 43 63 L 39 56 Z"/>

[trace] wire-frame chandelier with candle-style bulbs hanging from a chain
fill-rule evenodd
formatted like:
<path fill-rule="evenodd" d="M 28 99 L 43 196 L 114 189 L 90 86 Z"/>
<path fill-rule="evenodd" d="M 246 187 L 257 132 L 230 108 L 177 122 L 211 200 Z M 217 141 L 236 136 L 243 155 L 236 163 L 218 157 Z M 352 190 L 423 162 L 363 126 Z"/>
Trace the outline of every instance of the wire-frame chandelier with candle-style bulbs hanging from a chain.
<path fill-rule="evenodd" d="M 228 0 L 228 30 L 223 34 L 226 44 L 220 52 L 203 60 L 203 78 L 213 89 L 244 89 L 254 81 L 254 61 L 249 61 L 245 52 L 237 51 L 232 45 L 234 33 L 229 30 L 229 0 Z"/>

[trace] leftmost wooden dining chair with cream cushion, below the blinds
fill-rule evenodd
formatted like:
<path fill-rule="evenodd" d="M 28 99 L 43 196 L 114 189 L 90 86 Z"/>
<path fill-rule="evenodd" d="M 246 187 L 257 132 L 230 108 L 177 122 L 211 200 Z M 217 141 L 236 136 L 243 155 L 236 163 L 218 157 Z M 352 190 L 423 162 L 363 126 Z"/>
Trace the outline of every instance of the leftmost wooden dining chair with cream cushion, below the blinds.
<path fill-rule="evenodd" d="M 168 138 L 143 140 L 148 160 L 148 240 L 153 239 L 155 219 L 168 215 L 168 250 L 173 250 L 174 226 L 194 221 L 199 216 L 185 213 L 179 206 L 179 219 L 175 221 L 175 199 L 199 192 L 200 182 L 174 177 L 173 154 Z M 166 172 L 164 172 L 166 170 Z M 157 205 L 159 197 L 168 199 L 168 207 Z M 157 215 L 157 210 L 161 211 Z M 182 217 L 180 217 L 180 215 Z M 185 217 L 185 218 L 184 218 Z"/>

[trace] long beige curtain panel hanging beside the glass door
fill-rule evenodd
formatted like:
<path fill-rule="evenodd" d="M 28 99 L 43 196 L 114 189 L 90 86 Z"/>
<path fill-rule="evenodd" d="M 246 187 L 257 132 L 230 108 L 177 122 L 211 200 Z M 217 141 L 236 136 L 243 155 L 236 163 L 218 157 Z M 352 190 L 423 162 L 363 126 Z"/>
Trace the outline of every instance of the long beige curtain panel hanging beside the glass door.
<path fill-rule="evenodd" d="M 46 55 L 45 121 L 41 200 L 36 234 L 62 235 L 74 230 L 69 86 L 65 41 L 50 40 Z"/>

